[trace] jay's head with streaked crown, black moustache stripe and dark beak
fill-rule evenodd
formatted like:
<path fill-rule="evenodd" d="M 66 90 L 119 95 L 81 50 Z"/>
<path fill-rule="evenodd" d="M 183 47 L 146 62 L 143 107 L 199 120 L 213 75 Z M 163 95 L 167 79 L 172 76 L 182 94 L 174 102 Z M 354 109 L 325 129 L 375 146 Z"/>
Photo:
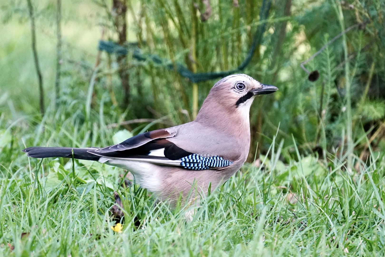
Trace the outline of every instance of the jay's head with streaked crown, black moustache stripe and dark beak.
<path fill-rule="evenodd" d="M 228 108 L 236 108 L 243 114 L 247 112 L 248 115 L 256 95 L 271 94 L 278 88 L 262 84 L 246 74 L 236 74 L 221 79 L 212 90 L 220 96 L 221 104 Z"/>

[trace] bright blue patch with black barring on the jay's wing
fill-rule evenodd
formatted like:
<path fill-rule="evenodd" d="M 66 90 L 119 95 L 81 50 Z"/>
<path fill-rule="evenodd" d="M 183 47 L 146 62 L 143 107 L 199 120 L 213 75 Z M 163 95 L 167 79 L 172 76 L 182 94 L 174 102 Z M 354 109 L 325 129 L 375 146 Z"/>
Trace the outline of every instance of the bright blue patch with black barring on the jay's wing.
<path fill-rule="evenodd" d="M 181 165 L 190 170 L 206 170 L 214 167 L 225 167 L 232 163 L 232 161 L 224 160 L 219 156 L 202 157 L 195 153 L 181 158 Z"/>

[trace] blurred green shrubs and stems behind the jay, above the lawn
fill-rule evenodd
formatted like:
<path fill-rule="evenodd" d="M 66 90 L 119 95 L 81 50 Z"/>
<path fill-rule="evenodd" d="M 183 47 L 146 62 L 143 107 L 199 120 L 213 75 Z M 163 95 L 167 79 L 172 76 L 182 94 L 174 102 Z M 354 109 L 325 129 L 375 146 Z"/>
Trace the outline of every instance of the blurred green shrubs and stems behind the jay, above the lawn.
<path fill-rule="evenodd" d="M 232 70 L 246 58 L 259 29 L 263 32 L 259 44 L 239 73 L 280 90 L 258 97 L 251 108 L 249 161 L 255 153 L 266 152 L 277 131 L 278 138 L 285 139 L 286 158 L 295 156 L 292 134 L 306 155 L 326 156 L 348 143 L 349 149 L 365 152 L 366 158 L 365 134 L 370 139 L 376 132 L 370 143 L 382 151 L 383 1 L 265 0 L 268 3 L 268 19 L 261 20 L 262 1 L 65 1 L 58 38 L 56 1 L 33 2 L 46 119 L 60 126 L 72 117 L 73 124 L 87 127 L 83 133 L 94 129 L 95 120 L 107 133 L 144 127 L 144 123 L 120 125 L 138 118 L 164 117 L 151 129 L 191 121 L 194 108 L 199 109 L 221 77 L 194 84 L 169 66 L 182 65 L 194 73 Z M 20 118 L 38 122 L 42 114 L 27 1 L 3 1 L 1 9 L 0 111 L 6 128 Z M 320 74 L 318 80 L 309 81 L 300 63 L 352 25 L 356 26 L 305 64 L 308 71 Z M 126 47 L 127 55 L 99 52 L 100 39 Z M 135 52 L 164 61 L 139 60 L 133 57 Z M 106 127 L 111 123 L 119 124 Z M 95 137 L 91 133 L 86 145 L 102 146 Z"/>

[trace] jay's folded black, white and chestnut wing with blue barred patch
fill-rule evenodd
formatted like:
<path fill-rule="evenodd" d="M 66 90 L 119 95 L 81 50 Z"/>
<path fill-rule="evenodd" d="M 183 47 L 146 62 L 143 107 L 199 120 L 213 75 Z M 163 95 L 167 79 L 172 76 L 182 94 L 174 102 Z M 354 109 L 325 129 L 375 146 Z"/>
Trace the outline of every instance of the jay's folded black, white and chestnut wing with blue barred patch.
<path fill-rule="evenodd" d="M 129 138 L 120 144 L 90 149 L 88 152 L 100 156 L 99 161 L 102 163 L 110 159 L 122 159 L 180 166 L 190 170 L 219 168 L 233 163 L 220 156 L 202 156 L 199 153 L 186 151 L 168 140 L 177 136 L 177 127 L 167 130 L 149 131 Z"/>

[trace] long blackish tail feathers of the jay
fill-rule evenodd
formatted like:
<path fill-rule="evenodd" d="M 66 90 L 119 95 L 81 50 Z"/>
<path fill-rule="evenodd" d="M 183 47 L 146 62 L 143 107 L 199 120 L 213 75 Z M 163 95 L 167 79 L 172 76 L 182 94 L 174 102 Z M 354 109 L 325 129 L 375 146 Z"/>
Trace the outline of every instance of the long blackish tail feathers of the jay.
<path fill-rule="evenodd" d="M 23 149 L 28 157 L 47 158 L 47 157 L 65 157 L 72 158 L 72 150 L 74 150 L 74 158 L 80 160 L 99 161 L 100 156 L 89 153 L 89 150 L 97 148 L 70 148 L 70 147 L 41 147 L 33 146 Z"/>

